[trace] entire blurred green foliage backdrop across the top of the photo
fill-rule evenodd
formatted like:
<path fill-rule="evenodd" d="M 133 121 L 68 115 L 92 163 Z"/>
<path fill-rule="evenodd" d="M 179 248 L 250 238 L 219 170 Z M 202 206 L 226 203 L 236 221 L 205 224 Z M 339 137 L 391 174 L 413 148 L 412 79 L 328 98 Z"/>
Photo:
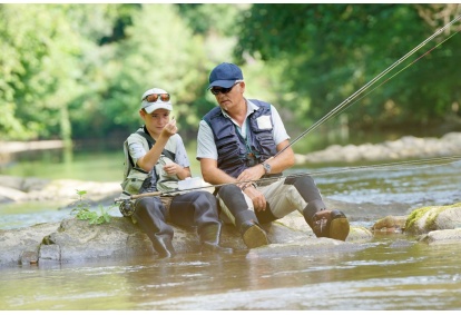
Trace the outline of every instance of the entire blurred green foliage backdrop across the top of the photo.
<path fill-rule="evenodd" d="M 239 63 L 247 96 L 276 105 L 288 132 L 300 134 L 452 20 L 460 8 L 0 4 L 0 139 L 118 138 L 121 144 L 140 124 L 140 95 L 158 86 L 171 93 L 180 134 L 193 140 L 199 119 L 216 106 L 207 79 L 223 61 Z M 459 118 L 461 69 L 454 65 L 461 36 L 432 49 L 459 30 L 460 22 L 419 50 L 343 117 L 356 128 Z M 335 117 L 322 127 L 336 125 Z"/>

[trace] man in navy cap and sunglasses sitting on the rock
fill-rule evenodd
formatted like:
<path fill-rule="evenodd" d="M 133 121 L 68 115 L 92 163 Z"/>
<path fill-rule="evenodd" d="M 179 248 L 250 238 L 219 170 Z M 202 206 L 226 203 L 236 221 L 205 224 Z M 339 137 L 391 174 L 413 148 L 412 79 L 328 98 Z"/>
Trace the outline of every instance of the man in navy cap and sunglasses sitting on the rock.
<path fill-rule="evenodd" d="M 222 211 L 238 228 L 246 246 L 267 245 L 259 224 L 294 210 L 303 214 L 317 237 L 345 240 L 347 218 L 342 211 L 326 209 L 310 176 L 269 180 L 282 177 L 282 171 L 295 163 L 290 136 L 275 107 L 244 97 L 244 77 L 233 63 L 223 62 L 213 69 L 208 89 L 219 107 L 199 124 L 197 159 L 205 181 L 219 185 Z"/>

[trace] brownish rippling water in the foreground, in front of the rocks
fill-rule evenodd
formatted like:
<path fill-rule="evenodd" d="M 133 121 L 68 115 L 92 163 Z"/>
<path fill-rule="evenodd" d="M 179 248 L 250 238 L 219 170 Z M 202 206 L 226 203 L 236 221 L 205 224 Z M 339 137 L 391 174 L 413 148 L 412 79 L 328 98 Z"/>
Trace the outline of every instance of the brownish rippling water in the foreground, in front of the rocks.
<path fill-rule="evenodd" d="M 0 297 L 2 309 L 460 309 L 458 247 L 394 236 L 355 253 L 13 268 Z"/>

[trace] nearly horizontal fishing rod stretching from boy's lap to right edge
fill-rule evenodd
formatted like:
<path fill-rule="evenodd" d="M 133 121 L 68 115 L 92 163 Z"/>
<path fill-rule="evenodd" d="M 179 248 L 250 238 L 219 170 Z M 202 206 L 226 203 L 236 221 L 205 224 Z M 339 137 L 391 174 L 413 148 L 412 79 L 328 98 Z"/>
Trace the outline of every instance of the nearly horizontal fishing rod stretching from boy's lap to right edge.
<path fill-rule="evenodd" d="M 153 191 L 153 193 L 138 194 L 138 195 L 129 195 L 128 193 L 124 193 L 124 195 L 126 196 L 115 199 L 115 203 L 139 199 L 141 197 L 174 196 L 174 195 L 183 194 L 187 191 L 202 190 L 202 189 L 207 189 L 207 188 L 219 188 L 226 185 L 248 184 L 248 183 L 255 183 L 257 185 L 262 183 L 273 183 L 273 181 L 277 181 L 277 180 L 285 179 L 285 178 L 297 178 L 297 177 L 303 177 L 303 176 L 332 175 L 332 174 L 357 171 L 357 170 L 370 170 L 370 169 L 374 169 L 374 170 L 388 169 L 389 170 L 392 167 L 399 167 L 400 169 L 402 169 L 402 166 L 413 166 L 413 167 L 408 167 L 406 169 L 415 169 L 416 168 L 415 166 L 420 166 L 419 168 L 433 167 L 433 165 L 430 165 L 430 166 L 424 165 L 428 163 L 439 163 L 438 166 L 441 166 L 441 165 L 451 164 L 457 160 L 458 161 L 461 160 L 461 156 L 426 158 L 426 159 L 388 163 L 388 164 L 375 164 L 375 165 L 365 165 L 365 166 L 352 166 L 352 167 L 336 168 L 332 170 L 318 170 L 318 171 L 310 171 L 310 173 L 306 171 L 306 173 L 291 174 L 287 176 L 261 178 L 257 180 L 242 180 L 242 181 L 226 183 L 226 184 L 218 184 L 218 185 L 207 185 L 207 186 L 200 186 L 200 187 L 186 188 L 182 190 Z"/>

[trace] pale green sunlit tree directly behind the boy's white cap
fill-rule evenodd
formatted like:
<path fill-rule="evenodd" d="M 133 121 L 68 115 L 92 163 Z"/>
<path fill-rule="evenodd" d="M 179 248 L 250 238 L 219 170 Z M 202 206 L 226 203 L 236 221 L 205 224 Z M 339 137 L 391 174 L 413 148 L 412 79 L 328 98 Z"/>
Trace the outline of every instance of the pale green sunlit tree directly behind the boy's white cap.
<path fill-rule="evenodd" d="M 112 126 L 131 132 L 140 124 L 140 96 L 151 87 L 163 87 L 171 93 L 183 134 L 189 125 L 196 128 L 196 108 L 190 105 L 206 80 L 202 37 L 192 33 L 173 4 L 143 4 L 126 32 L 127 38 L 119 42 L 107 65 L 114 76 L 96 110 L 108 124 L 98 124 L 98 132 L 108 135 Z"/>

